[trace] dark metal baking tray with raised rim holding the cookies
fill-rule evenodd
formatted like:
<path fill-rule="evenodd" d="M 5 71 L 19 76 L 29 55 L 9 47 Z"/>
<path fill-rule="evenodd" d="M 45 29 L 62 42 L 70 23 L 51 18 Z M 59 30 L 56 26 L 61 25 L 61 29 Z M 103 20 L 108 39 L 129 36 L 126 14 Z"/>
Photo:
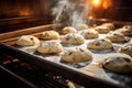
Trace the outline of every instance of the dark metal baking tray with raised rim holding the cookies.
<path fill-rule="evenodd" d="M 35 35 L 46 30 L 54 30 L 57 28 L 55 24 L 42 25 L 36 28 L 23 29 L 9 33 L 0 34 L 0 51 L 20 58 L 21 61 L 32 63 L 42 69 L 50 70 L 64 78 L 68 78 L 79 85 L 92 88 L 131 88 L 132 75 L 131 74 L 116 74 L 100 67 L 95 67 L 97 64 L 64 64 L 56 56 L 41 56 L 32 53 L 33 50 L 28 47 L 28 51 L 14 46 L 16 38 L 21 35 Z M 57 29 L 61 29 L 57 28 Z M 81 46 L 80 46 L 81 47 Z M 68 47 L 67 47 L 68 48 Z M 106 54 L 105 54 L 106 55 Z M 102 55 L 101 55 L 102 56 Z M 51 61 L 45 57 L 50 57 Z M 95 57 L 100 57 L 100 54 L 95 54 Z M 92 70 L 94 68 L 94 70 Z"/>

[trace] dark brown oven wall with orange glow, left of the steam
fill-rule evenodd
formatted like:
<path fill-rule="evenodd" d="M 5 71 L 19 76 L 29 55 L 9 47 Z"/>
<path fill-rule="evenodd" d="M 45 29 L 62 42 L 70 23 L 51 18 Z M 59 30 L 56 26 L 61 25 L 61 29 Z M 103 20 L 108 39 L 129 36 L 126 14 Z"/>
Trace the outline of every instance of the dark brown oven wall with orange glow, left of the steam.
<path fill-rule="evenodd" d="M 0 0 L 0 33 L 52 23 L 53 1 Z"/>

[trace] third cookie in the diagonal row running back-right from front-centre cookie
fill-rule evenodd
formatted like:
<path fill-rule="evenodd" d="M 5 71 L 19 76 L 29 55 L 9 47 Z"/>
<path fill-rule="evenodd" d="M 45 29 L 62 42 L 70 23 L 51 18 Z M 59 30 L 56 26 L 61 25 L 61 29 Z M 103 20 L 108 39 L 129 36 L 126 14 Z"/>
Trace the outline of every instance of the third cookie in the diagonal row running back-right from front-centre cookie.
<path fill-rule="evenodd" d="M 106 38 L 109 38 L 113 43 L 125 42 L 125 36 L 120 32 L 110 32 L 106 35 Z"/>

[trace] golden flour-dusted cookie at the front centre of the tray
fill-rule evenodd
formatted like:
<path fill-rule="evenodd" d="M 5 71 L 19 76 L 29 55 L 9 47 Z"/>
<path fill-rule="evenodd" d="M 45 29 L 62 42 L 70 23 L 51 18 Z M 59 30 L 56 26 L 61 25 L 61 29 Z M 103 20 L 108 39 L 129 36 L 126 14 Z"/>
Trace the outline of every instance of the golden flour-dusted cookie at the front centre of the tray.
<path fill-rule="evenodd" d="M 67 63 L 81 63 L 92 59 L 92 54 L 87 48 L 66 50 L 61 58 Z"/>

